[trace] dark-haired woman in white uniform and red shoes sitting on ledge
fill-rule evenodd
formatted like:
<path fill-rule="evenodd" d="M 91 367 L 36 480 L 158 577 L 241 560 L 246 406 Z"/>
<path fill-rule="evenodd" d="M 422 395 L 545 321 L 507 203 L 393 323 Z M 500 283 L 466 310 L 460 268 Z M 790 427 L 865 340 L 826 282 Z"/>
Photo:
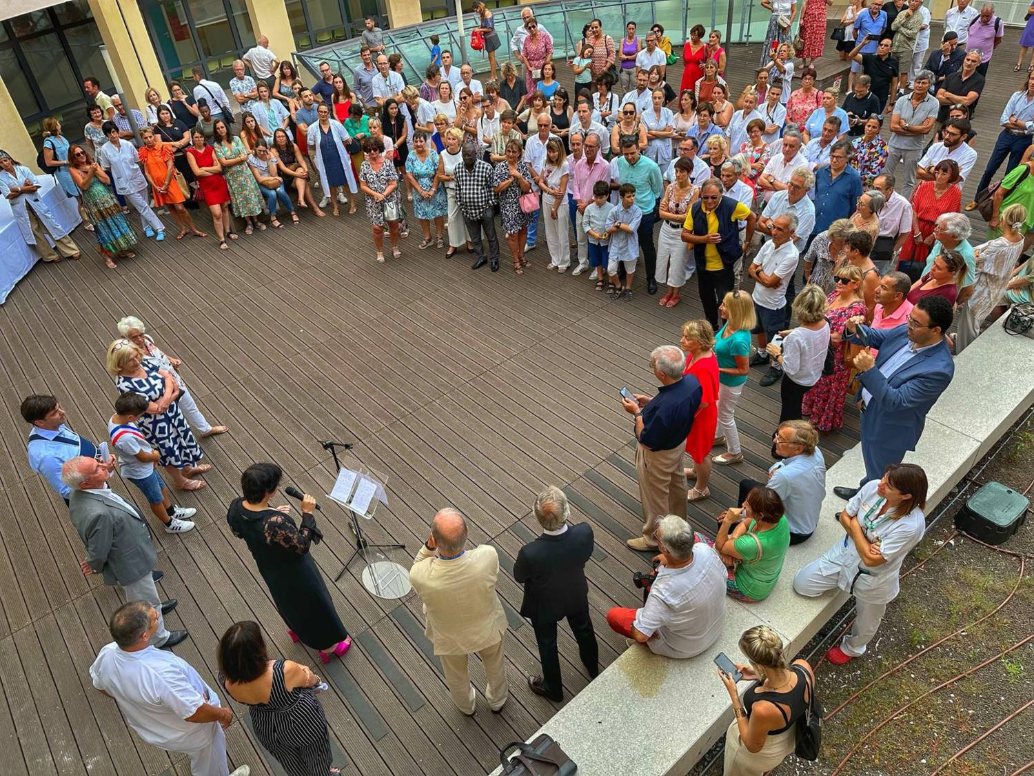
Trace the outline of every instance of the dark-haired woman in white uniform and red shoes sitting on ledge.
<path fill-rule="evenodd" d="M 926 473 L 914 464 L 887 467 L 880 480 L 871 480 L 840 514 L 847 536 L 793 579 L 802 596 L 820 596 L 840 588 L 855 599 L 857 617 L 851 632 L 826 658 L 842 665 L 865 654 L 887 604 L 899 591 L 902 562 L 926 529 Z"/>

